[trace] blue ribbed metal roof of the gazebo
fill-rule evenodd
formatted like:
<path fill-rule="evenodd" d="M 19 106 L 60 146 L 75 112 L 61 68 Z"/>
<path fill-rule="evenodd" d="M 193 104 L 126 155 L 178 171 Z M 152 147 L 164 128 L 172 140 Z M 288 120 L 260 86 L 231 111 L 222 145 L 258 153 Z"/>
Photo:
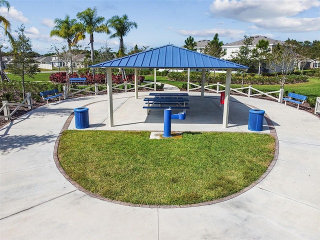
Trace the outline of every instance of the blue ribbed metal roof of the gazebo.
<path fill-rule="evenodd" d="M 91 65 L 123 68 L 248 68 L 171 44 Z"/>

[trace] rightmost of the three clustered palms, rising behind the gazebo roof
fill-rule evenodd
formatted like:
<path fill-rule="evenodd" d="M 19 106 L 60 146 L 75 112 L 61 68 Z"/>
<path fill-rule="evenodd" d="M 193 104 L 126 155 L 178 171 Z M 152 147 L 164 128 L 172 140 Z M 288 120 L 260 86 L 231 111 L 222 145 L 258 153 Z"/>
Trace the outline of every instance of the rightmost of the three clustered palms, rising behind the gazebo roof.
<path fill-rule="evenodd" d="M 108 23 L 109 27 L 115 30 L 115 33 L 110 35 L 110 38 L 118 37 L 120 40 L 118 56 L 124 56 L 123 36 L 126 36 L 133 27 L 137 28 L 137 24 L 134 21 L 129 21 L 126 14 L 122 15 L 122 17 L 118 15 L 112 16 Z"/>

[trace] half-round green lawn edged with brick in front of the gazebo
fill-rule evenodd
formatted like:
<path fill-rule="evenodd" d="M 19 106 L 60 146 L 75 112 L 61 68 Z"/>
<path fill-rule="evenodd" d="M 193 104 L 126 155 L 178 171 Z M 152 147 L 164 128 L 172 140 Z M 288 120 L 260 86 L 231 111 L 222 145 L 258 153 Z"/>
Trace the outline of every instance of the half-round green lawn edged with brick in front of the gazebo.
<path fill-rule="evenodd" d="M 148 131 L 66 130 L 60 164 L 84 188 L 136 204 L 210 201 L 257 180 L 273 159 L 269 134 L 184 132 L 149 139 Z"/>

